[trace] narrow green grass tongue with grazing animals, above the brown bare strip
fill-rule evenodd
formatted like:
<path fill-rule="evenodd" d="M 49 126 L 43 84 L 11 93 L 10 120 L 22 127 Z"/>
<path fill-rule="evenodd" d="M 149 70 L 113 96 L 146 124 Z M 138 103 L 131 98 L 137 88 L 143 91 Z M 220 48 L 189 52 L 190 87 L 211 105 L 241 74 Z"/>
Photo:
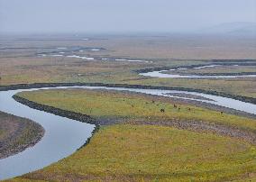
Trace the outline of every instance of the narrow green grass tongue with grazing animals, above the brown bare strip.
<path fill-rule="evenodd" d="M 256 133 L 256 121 L 232 114 L 221 114 L 194 105 L 178 105 L 168 98 L 160 99 L 138 94 L 118 93 L 114 91 L 95 91 L 85 89 L 51 89 L 22 92 L 22 96 L 31 101 L 50 105 L 60 109 L 89 114 L 96 118 L 147 121 L 203 121 L 222 123 Z M 154 102 L 152 102 L 154 101 Z M 176 104 L 180 111 L 173 107 Z M 165 109 L 161 113 L 160 109 Z M 188 110 L 190 108 L 190 111 Z"/>

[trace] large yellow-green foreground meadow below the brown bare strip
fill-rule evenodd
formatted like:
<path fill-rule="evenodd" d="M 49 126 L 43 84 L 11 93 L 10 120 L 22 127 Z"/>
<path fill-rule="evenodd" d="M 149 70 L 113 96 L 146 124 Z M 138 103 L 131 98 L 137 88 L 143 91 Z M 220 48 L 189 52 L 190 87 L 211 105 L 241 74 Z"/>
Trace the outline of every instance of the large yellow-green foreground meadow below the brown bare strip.
<path fill-rule="evenodd" d="M 220 181 L 255 174 L 255 159 L 255 147 L 243 141 L 120 124 L 101 128 L 69 158 L 15 180 Z"/>

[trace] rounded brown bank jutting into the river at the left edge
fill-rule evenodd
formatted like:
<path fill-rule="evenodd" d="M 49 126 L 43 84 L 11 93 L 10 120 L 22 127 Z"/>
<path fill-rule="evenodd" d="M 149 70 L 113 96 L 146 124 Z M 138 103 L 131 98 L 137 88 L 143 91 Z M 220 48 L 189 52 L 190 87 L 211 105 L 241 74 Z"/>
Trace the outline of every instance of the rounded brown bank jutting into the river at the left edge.
<path fill-rule="evenodd" d="M 38 123 L 0 112 L 0 159 L 34 146 L 44 132 Z"/>

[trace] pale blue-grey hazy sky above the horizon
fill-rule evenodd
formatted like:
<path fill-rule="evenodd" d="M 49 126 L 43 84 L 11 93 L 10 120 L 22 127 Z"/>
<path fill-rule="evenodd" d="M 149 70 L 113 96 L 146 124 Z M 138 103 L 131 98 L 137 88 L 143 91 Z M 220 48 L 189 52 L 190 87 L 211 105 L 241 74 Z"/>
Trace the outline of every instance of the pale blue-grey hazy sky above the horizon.
<path fill-rule="evenodd" d="M 0 0 L 0 32 L 189 32 L 256 22 L 256 0 Z"/>

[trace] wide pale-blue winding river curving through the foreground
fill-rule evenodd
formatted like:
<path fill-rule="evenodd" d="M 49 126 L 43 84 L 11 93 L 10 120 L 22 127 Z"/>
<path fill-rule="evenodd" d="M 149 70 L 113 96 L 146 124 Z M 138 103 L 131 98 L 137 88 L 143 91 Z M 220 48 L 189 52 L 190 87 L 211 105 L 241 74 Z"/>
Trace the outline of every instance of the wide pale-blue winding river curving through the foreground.
<path fill-rule="evenodd" d="M 16 93 L 22 91 L 33 91 L 39 89 L 60 89 L 60 88 L 84 88 L 84 89 L 107 89 L 117 91 L 131 91 L 154 96 L 168 96 L 188 100 L 197 100 L 213 105 L 221 105 L 249 114 L 256 114 L 256 105 L 222 96 L 211 96 L 197 92 L 186 92 L 176 90 L 140 89 L 106 86 L 59 86 L 32 89 L 19 89 L 0 92 L 0 111 L 8 114 L 31 119 L 45 129 L 45 135 L 41 141 L 33 147 L 23 150 L 14 156 L 0 159 L 0 179 L 16 177 L 33 170 L 46 167 L 53 162 L 68 157 L 82 146 L 92 135 L 94 124 L 80 123 L 65 117 L 49 114 L 43 111 L 32 109 L 22 105 L 12 98 Z M 171 94 L 179 94 L 173 95 Z M 181 94 L 194 95 L 196 97 L 183 97 Z M 199 96 L 199 97 L 198 97 Z"/>

